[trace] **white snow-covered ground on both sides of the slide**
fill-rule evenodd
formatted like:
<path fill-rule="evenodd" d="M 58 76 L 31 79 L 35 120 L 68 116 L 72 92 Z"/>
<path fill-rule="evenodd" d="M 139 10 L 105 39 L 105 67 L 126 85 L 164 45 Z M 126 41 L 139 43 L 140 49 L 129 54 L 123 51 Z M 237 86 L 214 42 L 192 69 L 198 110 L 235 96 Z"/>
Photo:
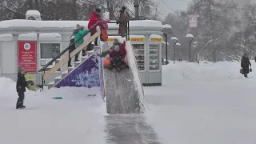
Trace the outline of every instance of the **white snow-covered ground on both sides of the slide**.
<path fill-rule="evenodd" d="M 256 73 L 244 78 L 239 69 L 239 62 L 163 66 L 162 86 L 144 87 L 147 125 L 163 144 L 256 143 Z M 1 144 L 111 143 L 105 103 L 86 97 L 97 88 L 28 91 L 24 110 L 14 109 L 15 82 L 0 78 L 0 91 Z"/>

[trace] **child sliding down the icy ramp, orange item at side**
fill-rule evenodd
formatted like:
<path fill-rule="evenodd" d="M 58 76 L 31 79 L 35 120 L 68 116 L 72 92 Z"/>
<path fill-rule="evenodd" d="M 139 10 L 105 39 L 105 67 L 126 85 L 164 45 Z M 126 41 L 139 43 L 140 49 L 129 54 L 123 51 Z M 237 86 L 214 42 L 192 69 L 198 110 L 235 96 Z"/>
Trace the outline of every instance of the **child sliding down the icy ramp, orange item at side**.
<path fill-rule="evenodd" d="M 123 66 L 126 69 L 129 69 L 129 66 L 125 60 L 126 58 L 126 42 L 118 42 L 118 39 L 114 39 L 113 46 L 110 47 L 110 50 L 102 52 L 100 57 L 106 57 L 109 54 L 110 58 L 106 58 L 104 60 L 104 67 L 112 70 L 116 68 L 116 70 L 120 71 Z"/>

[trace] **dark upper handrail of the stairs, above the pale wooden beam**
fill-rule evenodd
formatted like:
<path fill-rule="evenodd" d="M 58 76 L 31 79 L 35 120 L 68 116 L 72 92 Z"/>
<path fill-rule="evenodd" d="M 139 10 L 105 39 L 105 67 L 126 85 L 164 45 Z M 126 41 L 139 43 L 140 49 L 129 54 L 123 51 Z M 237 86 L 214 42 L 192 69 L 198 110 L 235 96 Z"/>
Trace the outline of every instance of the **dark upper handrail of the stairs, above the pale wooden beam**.
<path fill-rule="evenodd" d="M 45 71 L 46 68 L 48 66 L 50 66 L 54 61 L 56 61 L 58 58 L 60 58 L 63 54 L 66 53 L 67 50 L 70 50 L 70 47 L 73 46 L 76 42 L 78 42 L 81 38 L 85 37 L 87 34 L 90 33 L 90 30 L 94 29 L 94 27 L 98 26 L 98 23 L 102 22 L 102 21 L 98 21 L 94 24 L 94 26 L 92 26 L 88 31 L 86 31 L 85 34 L 82 34 L 82 36 L 80 38 L 78 38 L 76 41 L 74 41 L 72 44 L 70 44 L 70 46 L 68 46 L 65 50 L 62 50 L 62 52 L 60 54 L 58 54 L 55 58 L 53 58 L 52 60 L 50 60 L 50 62 L 48 62 L 45 66 L 43 66 L 40 70 L 38 70 L 38 72 L 42 72 Z"/>

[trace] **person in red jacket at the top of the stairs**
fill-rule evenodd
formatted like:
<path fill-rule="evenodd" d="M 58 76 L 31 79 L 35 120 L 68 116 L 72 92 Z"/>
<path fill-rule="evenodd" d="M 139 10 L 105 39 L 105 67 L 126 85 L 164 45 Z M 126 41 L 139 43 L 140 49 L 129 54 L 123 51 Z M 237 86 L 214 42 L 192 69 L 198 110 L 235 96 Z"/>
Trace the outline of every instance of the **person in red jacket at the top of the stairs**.
<path fill-rule="evenodd" d="M 88 22 L 88 29 L 92 28 L 92 26 L 94 26 L 98 21 L 102 21 L 101 12 L 102 10 L 100 10 L 99 8 L 96 8 L 94 9 L 94 11 L 91 12 L 90 20 Z M 102 26 L 101 22 L 98 23 L 98 26 Z M 93 36 L 97 32 L 96 27 L 97 26 L 90 30 L 90 36 Z M 88 48 L 90 48 L 90 45 L 91 43 L 88 45 Z M 98 46 L 98 37 L 94 40 L 94 46 Z"/>

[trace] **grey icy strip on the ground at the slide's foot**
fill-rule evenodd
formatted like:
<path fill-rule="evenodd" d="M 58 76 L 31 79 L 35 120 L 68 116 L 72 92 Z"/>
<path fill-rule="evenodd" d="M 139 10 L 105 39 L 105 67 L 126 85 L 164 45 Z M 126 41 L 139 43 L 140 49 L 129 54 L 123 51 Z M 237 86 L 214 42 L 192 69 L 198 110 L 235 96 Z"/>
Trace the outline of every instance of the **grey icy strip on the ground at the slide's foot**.
<path fill-rule="evenodd" d="M 158 135 L 142 115 L 109 115 L 105 119 L 108 144 L 160 144 Z"/>

